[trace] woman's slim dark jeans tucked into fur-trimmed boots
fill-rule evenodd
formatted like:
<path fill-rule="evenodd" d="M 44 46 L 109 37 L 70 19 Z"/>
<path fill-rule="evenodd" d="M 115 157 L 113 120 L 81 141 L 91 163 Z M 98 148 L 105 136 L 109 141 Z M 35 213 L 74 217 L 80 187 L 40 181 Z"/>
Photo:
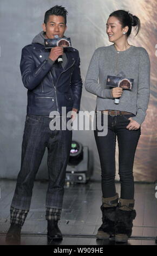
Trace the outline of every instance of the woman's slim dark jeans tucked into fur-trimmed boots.
<path fill-rule="evenodd" d="M 103 126 L 103 113 L 101 114 Z M 133 164 L 136 147 L 141 135 L 141 129 L 129 131 L 126 126 L 134 114 L 108 115 L 108 133 L 98 136 L 99 130 L 94 131 L 96 145 L 101 164 L 101 185 L 104 198 L 115 196 L 115 145 L 116 136 L 119 147 L 119 175 L 121 183 L 121 198 L 134 199 Z"/>

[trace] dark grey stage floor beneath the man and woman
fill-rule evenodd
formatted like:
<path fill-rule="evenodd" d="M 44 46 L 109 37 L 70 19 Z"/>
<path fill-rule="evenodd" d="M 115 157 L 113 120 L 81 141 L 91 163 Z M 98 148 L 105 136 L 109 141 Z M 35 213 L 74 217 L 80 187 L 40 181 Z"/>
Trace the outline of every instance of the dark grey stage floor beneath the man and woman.
<path fill-rule="evenodd" d="M 5 234 L 10 226 L 10 204 L 16 181 L 1 180 L 0 245 L 5 245 Z M 47 181 L 35 181 L 30 211 L 22 228 L 21 245 L 119 245 L 114 238 L 109 242 L 96 240 L 101 225 L 101 182 L 67 184 L 59 226 L 61 242 L 47 241 L 45 194 Z M 120 194 L 120 184 L 116 183 Z M 157 199 L 155 184 L 135 183 L 136 218 L 128 245 L 155 245 L 157 236 Z"/>

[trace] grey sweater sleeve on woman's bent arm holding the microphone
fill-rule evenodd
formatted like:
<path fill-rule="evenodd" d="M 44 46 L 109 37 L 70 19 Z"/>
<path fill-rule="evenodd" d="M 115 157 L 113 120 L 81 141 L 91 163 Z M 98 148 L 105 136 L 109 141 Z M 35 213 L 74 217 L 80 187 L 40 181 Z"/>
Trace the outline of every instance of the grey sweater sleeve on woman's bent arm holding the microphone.
<path fill-rule="evenodd" d="M 113 99 L 111 89 L 104 89 L 104 84 L 98 83 L 99 59 L 100 51 L 99 48 L 97 48 L 93 54 L 93 57 L 90 60 L 85 81 L 85 88 L 87 92 L 95 94 L 99 97 Z"/>

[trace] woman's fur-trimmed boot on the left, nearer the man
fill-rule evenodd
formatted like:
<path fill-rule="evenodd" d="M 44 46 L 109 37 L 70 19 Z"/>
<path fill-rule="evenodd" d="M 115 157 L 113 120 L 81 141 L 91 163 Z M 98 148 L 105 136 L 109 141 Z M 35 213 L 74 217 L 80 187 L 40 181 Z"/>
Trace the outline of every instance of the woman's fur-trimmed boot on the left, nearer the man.
<path fill-rule="evenodd" d="M 116 193 L 114 197 L 102 197 L 102 225 L 98 229 L 97 239 L 109 239 L 110 235 L 115 234 L 115 210 L 119 200 L 119 195 Z"/>

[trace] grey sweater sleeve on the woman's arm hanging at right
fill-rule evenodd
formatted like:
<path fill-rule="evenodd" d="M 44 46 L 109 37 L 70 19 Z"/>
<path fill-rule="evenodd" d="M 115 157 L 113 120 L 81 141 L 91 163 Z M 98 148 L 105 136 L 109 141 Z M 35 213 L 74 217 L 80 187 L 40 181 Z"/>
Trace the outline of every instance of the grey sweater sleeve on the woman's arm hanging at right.
<path fill-rule="evenodd" d="M 139 55 L 139 80 L 137 95 L 137 113 L 132 119 L 140 125 L 145 120 L 150 96 L 150 60 L 147 51 L 141 48 Z"/>

